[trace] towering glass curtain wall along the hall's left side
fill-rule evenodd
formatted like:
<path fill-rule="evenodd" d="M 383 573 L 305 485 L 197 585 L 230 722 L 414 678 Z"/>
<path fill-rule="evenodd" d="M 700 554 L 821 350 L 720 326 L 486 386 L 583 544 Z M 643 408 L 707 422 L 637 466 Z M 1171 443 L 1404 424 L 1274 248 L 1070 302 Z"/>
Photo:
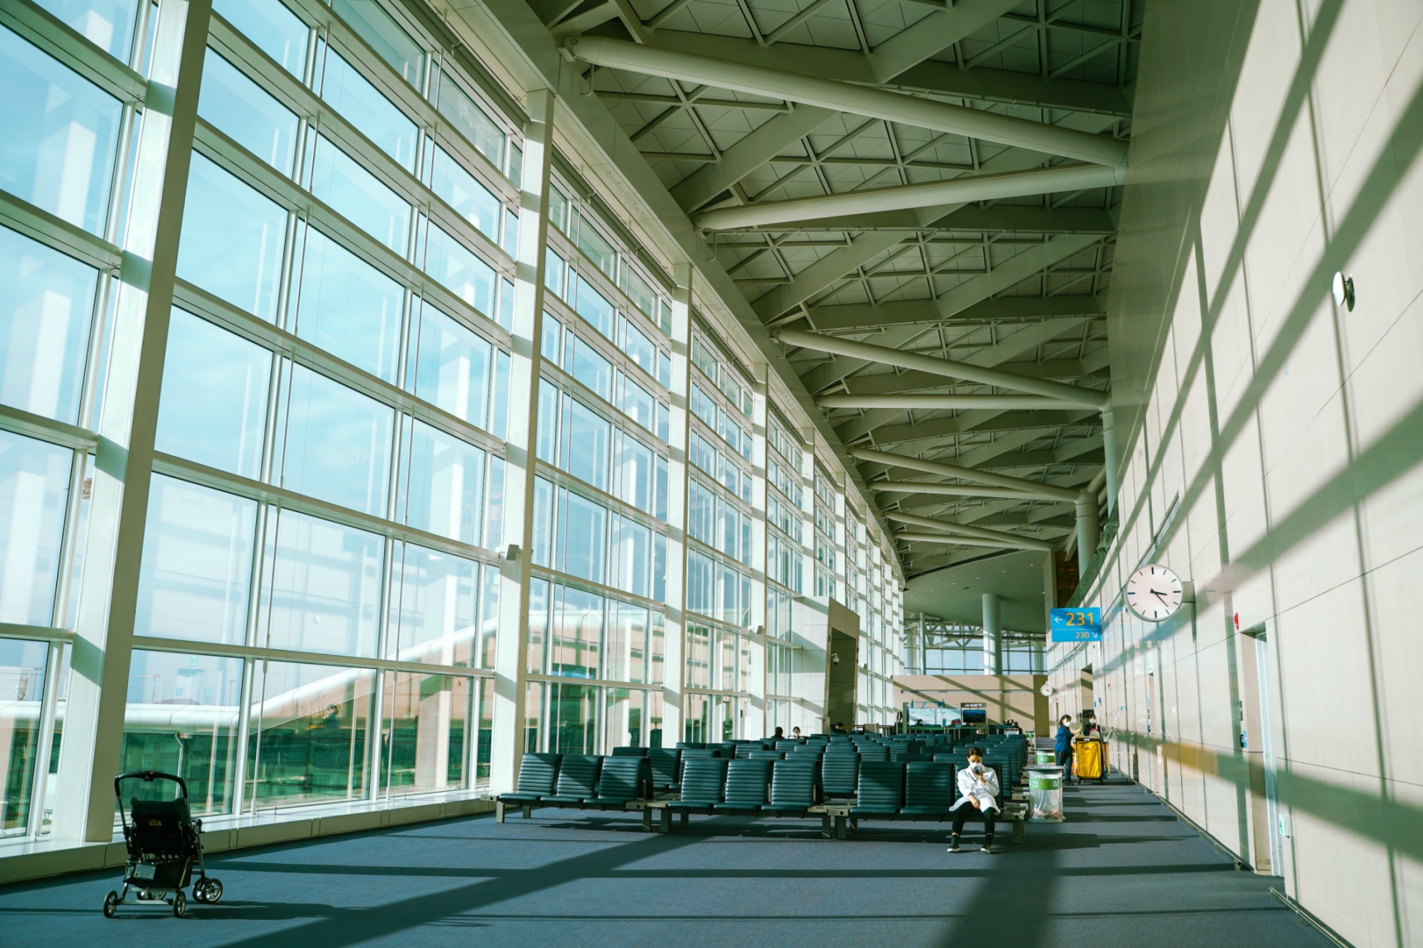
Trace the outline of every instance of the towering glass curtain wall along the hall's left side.
<path fill-rule="evenodd" d="M 122 259 L 151 211 L 135 195 L 162 172 L 138 148 L 161 4 L 14 7 L 0 26 L 0 834 L 26 836 L 51 817 L 68 642 L 94 582 Z M 179 773 L 201 813 L 490 779 L 522 117 L 420 23 L 396 1 L 213 4 L 121 737 L 122 766 Z M 773 669 L 793 659 L 756 659 L 760 596 L 855 586 L 895 651 L 888 561 L 857 541 L 872 578 L 845 578 L 842 500 L 817 501 L 784 418 L 757 493 L 750 376 L 700 317 L 687 520 L 667 522 L 672 283 L 555 164 L 525 746 L 657 746 L 669 675 L 690 689 L 686 727 L 710 736 L 743 736 L 746 695 L 774 678 L 788 692 L 774 726 L 795 686 Z M 672 530 L 689 537 L 677 584 Z M 832 576 L 818 589 L 815 562 Z M 683 608 L 684 668 L 669 670 L 666 616 Z M 785 615 L 771 635 L 793 655 Z"/>

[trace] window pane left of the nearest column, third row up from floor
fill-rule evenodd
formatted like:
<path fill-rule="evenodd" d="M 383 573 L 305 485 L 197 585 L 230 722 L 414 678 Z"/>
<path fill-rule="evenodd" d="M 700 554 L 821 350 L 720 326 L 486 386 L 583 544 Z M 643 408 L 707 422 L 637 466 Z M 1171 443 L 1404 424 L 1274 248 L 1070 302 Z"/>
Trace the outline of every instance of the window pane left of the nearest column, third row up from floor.
<path fill-rule="evenodd" d="M 74 424 L 97 272 L 0 228 L 0 401 Z"/>

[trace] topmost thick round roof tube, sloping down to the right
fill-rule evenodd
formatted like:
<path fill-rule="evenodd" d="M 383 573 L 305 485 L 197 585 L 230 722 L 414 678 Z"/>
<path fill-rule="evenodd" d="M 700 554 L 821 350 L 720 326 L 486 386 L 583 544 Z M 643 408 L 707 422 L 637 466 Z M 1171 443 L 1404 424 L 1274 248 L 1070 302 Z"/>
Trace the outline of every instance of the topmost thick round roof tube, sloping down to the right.
<path fill-rule="evenodd" d="M 676 53 L 598 36 L 569 37 L 564 43 L 564 50 L 569 58 L 642 73 L 643 75 L 660 75 L 737 93 L 768 95 L 805 105 L 832 108 L 840 112 L 854 112 L 918 128 L 996 141 L 1003 145 L 1076 158 L 1097 165 L 1118 168 L 1127 164 L 1127 142 L 1123 139 L 979 108 L 949 105 L 884 88 L 852 85 L 764 65 L 733 63 L 694 53 Z"/>

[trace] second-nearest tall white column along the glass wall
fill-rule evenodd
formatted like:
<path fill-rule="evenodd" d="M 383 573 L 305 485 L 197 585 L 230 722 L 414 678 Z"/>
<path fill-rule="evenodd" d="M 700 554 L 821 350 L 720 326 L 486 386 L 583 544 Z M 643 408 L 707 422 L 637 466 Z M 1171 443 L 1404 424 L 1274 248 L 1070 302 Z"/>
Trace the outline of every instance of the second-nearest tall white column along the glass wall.
<path fill-rule="evenodd" d="M 529 579 L 534 567 L 534 444 L 538 438 L 539 352 L 544 346 L 544 248 L 554 157 L 552 90 L 529 93 L 515 253 L 514 332 L 509 359 L 509 440 L 505 446 L 505 549 L 499 562 L 499 636 L 494 658 L 490 791 L 514 790 L 524 757 L 528 680 Z M 519 396 L 518 393 L 524 393 Z M 535 712 L 536 713 L 536 712 Z"/>

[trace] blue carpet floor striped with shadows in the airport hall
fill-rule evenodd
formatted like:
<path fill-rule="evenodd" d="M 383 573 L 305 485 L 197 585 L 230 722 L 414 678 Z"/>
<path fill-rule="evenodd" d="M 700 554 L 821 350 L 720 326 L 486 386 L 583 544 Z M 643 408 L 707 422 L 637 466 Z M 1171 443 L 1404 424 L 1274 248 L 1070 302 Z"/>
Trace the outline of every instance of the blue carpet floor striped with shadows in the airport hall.
<path fill-rule="evenodd" d="M 1278 878 L 1232 864 L 1127 783 L 1069 787 L 1069 821 L 1023 846 L 948 854 L 946 827 L 535 811 L 448 820 L 218 854 L 226 892 L 110 921 L 117 873 L 0 887 L 4 945 L 768 945 L 1155 948 L 1328 942 L 1268 897 Z M 932 827 L 932 828 L 931 828 Z"/>

